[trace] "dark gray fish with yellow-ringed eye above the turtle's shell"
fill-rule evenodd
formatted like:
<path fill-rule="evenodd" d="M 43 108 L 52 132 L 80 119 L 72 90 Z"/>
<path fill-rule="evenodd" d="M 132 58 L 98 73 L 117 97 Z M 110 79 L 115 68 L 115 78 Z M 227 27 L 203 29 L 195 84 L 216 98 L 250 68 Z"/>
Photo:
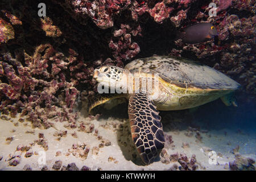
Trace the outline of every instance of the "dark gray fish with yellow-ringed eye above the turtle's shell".
<path fill-rule="evenodd" d="M 184 28 L 177 34 L 177 39 L 182 39 L 184 43 L 196 44 L 208 41 L 218 35 L 212 23 L 196 23 Z"/>

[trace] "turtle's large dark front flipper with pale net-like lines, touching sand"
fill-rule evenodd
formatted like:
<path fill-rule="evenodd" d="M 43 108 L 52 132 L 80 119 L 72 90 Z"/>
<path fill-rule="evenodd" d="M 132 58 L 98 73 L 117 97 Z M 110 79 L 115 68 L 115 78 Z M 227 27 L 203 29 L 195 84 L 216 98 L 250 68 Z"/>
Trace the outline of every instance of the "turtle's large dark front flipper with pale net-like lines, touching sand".
<path fill-rule="evenodd" d="M 164 147 L 163 126 L 158 113 L 147 94 L 135 93 L 130 97 L 131 137 L 145 164 L 152 163 Z"/>

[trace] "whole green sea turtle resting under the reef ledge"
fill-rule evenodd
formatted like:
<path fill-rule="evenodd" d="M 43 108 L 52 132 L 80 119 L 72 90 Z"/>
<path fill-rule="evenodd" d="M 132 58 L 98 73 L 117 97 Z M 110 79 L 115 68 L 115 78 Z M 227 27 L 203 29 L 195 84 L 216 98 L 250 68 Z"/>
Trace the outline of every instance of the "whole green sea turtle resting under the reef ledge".
<path fill-rule="evenodd" d="M 226 105 L 236 105 L 233 92 L 240 87 L 216 69 L 171 56 L 137 59 L 125 68 L 98 67 L 93 77 L 101 84 L 98 89 L 104 85 L 107 91 L 109 88 L 118 93 L 129 91 L 102 97 L 92 104 L 89 112 L 113 98 L 129 99 L 131 137 L 145 164 L 152 163 L 164 147 L 158 110 L 189 109 L 220 97 Z"/>

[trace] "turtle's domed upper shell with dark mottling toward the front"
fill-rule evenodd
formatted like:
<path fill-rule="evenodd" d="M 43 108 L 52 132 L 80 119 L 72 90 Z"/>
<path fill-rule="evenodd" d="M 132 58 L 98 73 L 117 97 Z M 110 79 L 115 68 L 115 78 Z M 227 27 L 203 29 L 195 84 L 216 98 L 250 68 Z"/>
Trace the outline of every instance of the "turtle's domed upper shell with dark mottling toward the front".
<path fill-rule="evenodd" d="M 131 73 L 159 73 L 164 81 L 183 88 L 236 90 L 240 87 L 240 84 L 216 69 L 181 57 L 147 57 L 131 61 L 125 68 Z"/>

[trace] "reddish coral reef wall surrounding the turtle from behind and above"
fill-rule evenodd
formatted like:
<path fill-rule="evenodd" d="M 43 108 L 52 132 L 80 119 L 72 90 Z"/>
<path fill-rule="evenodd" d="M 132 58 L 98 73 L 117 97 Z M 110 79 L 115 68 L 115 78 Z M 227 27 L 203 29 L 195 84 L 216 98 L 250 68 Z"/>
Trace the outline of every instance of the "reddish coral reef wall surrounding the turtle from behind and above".
<path fill-rule="evenodd" d="M 68 121 L 82 130 L 74 109 L 94 97 L 94 68 L 153 54 L 214 67 L 240 82 L 250 101 L 256 96 L 254 2 L 213 2 L 217 16 L 210 17 L 210 1 L 52 0 L 39 17 L 40 1 L 1 1 L 1 114 L 21 113 L 34 127 Z M 175 32 L 196 22 L 213 23 L 218 40 L 175 40 Z"/>

